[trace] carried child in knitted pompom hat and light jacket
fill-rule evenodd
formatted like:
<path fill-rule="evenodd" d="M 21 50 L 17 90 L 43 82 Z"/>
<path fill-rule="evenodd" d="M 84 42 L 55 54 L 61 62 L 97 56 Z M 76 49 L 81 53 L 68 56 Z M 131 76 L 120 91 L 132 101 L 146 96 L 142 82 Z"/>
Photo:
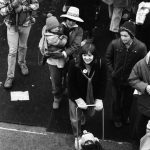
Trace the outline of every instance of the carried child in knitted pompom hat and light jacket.
<path fill-rule="evenodd" d="M 63 49 L 66 43 L 67 36 L 62 33 L 60 23 L 55 16 L 49 13 L 39 43 L 39 49 L 43 55 L 42 64 L 48 61 L 52 65 L 64 66 L 66 56 Z"/>

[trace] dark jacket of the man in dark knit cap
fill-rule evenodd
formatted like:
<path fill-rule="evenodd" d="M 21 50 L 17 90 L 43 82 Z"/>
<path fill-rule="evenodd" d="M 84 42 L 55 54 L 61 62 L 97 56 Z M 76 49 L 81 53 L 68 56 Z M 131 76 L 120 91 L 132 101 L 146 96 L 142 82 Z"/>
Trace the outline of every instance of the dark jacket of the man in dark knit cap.
<path fill-rule="evenodd" d="M 116 84 L 128 84 L 128 77 L 133 66 L 147 53 L 144 43 L 133 39 L 133 43 L 127 49 L 122 40 L 113 40 L 106 51 L 106 64 L 112 80 Z"/>

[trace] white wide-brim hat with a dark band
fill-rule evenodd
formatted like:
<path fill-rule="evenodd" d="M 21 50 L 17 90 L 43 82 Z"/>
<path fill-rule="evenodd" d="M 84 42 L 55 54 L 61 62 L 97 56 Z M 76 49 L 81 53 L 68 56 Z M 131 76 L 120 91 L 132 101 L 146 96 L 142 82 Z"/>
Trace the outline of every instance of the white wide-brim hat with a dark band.
<path fill-rule="evenodd" d="M 84 22 L 79 17 L 79 9 L 77 7 L 70 7 L 66 14 L 61 15 L 60 17 L 69 18 L 78 22 Z"/>

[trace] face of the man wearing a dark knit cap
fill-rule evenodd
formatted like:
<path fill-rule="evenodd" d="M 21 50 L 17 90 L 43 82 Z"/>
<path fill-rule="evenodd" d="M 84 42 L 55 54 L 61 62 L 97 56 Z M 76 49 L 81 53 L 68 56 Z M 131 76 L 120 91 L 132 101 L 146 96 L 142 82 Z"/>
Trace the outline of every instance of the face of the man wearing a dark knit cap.
<path fill-rule="evenodd" d="M 120 38 L 124 44 L 129 44 L 132 40 L 131 36 L 127 31 L 121 31 L 120 32 Z"/>

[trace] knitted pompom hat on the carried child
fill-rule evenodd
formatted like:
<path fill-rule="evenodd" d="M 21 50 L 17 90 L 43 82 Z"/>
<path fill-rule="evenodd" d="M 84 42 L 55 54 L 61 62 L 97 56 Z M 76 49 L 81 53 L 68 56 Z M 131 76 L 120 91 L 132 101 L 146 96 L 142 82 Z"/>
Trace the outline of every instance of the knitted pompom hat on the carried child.
<path fill-rule="evenodd" d="M 56 28 L 59 26 L 59 22 L 55 16 L 53 16 L 51 13 L 47 14 L 46 19 L 46 29 L 51 30 L 53 28 Z"/>

